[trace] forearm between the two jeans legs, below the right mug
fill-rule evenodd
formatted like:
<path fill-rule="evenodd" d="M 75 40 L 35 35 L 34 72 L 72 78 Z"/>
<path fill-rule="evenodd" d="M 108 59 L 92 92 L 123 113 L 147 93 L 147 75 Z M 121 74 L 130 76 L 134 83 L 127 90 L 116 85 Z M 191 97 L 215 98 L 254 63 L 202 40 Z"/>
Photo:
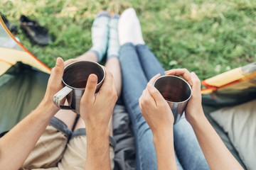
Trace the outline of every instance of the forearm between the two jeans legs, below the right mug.
<path fill-rule="evenodd" d="M 157 169 L 178 169 L 174 153 L 173 127 L 154 133 L 153 141 L 156 149 Z"/>

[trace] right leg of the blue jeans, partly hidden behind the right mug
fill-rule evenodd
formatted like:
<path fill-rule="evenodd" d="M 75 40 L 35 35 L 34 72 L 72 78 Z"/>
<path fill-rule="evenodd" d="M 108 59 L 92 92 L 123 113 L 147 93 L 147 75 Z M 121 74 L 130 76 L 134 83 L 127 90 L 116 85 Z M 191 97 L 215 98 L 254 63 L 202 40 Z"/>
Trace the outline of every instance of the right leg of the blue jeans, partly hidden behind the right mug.
<path fill-rule="evenodd" d="M 164 75 L 164 68 L 146 45 L 137 45 L 136 50 L 148 81 L 156 74 Z M 184 115 L 174 125 L 174 149 L 176 160 L 183 169 L 209 169 L 193 128 Z"/>

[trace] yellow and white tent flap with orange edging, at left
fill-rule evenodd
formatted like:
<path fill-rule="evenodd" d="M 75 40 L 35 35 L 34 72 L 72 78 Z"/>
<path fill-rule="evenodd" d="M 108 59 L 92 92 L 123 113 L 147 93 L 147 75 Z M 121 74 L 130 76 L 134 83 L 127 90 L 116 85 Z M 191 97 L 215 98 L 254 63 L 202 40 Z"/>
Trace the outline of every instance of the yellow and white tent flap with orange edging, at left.
<path fill-rule="evenodd" d="M 6 28 L 1 16 L 0 23 L 0 76 L 11 66 L 16 64 L 16 62 L 23 62 L 23 64 L 31 65 L 31 67 L 35 67 L 42 72 L 50 74 L 50 68 L 32 55 L 31 52 L 28 52 L 28 50 L 14 38 L 14 35 Z"/>

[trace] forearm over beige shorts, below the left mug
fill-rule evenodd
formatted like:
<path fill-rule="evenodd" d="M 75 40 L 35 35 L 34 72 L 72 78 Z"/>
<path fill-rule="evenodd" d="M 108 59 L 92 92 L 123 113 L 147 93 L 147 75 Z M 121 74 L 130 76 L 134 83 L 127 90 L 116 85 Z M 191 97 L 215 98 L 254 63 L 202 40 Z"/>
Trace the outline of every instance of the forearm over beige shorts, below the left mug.
<path fill-rule="evenodd" d="M 110 167 L 110 130 L 86 128 L 87 158 L 85 169 L 111 169 Z"/>

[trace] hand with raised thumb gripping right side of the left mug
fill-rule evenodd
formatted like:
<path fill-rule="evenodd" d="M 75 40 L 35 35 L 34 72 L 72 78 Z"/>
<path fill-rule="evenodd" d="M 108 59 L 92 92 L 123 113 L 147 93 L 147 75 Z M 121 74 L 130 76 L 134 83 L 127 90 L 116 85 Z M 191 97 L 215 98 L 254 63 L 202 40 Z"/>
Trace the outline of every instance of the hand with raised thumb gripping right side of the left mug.
<path fill-rule="evenodd" d="M 110 71 L 105 68 L 105 80 L 100 91 L 95 94 L 97 76 L 90 74 L 85 87 L 85 92 L 80 101 L 80 116 L 85 121 L 86 131 L 95 130 L 105 132 L 117 101 L 117 91 Z"/>

